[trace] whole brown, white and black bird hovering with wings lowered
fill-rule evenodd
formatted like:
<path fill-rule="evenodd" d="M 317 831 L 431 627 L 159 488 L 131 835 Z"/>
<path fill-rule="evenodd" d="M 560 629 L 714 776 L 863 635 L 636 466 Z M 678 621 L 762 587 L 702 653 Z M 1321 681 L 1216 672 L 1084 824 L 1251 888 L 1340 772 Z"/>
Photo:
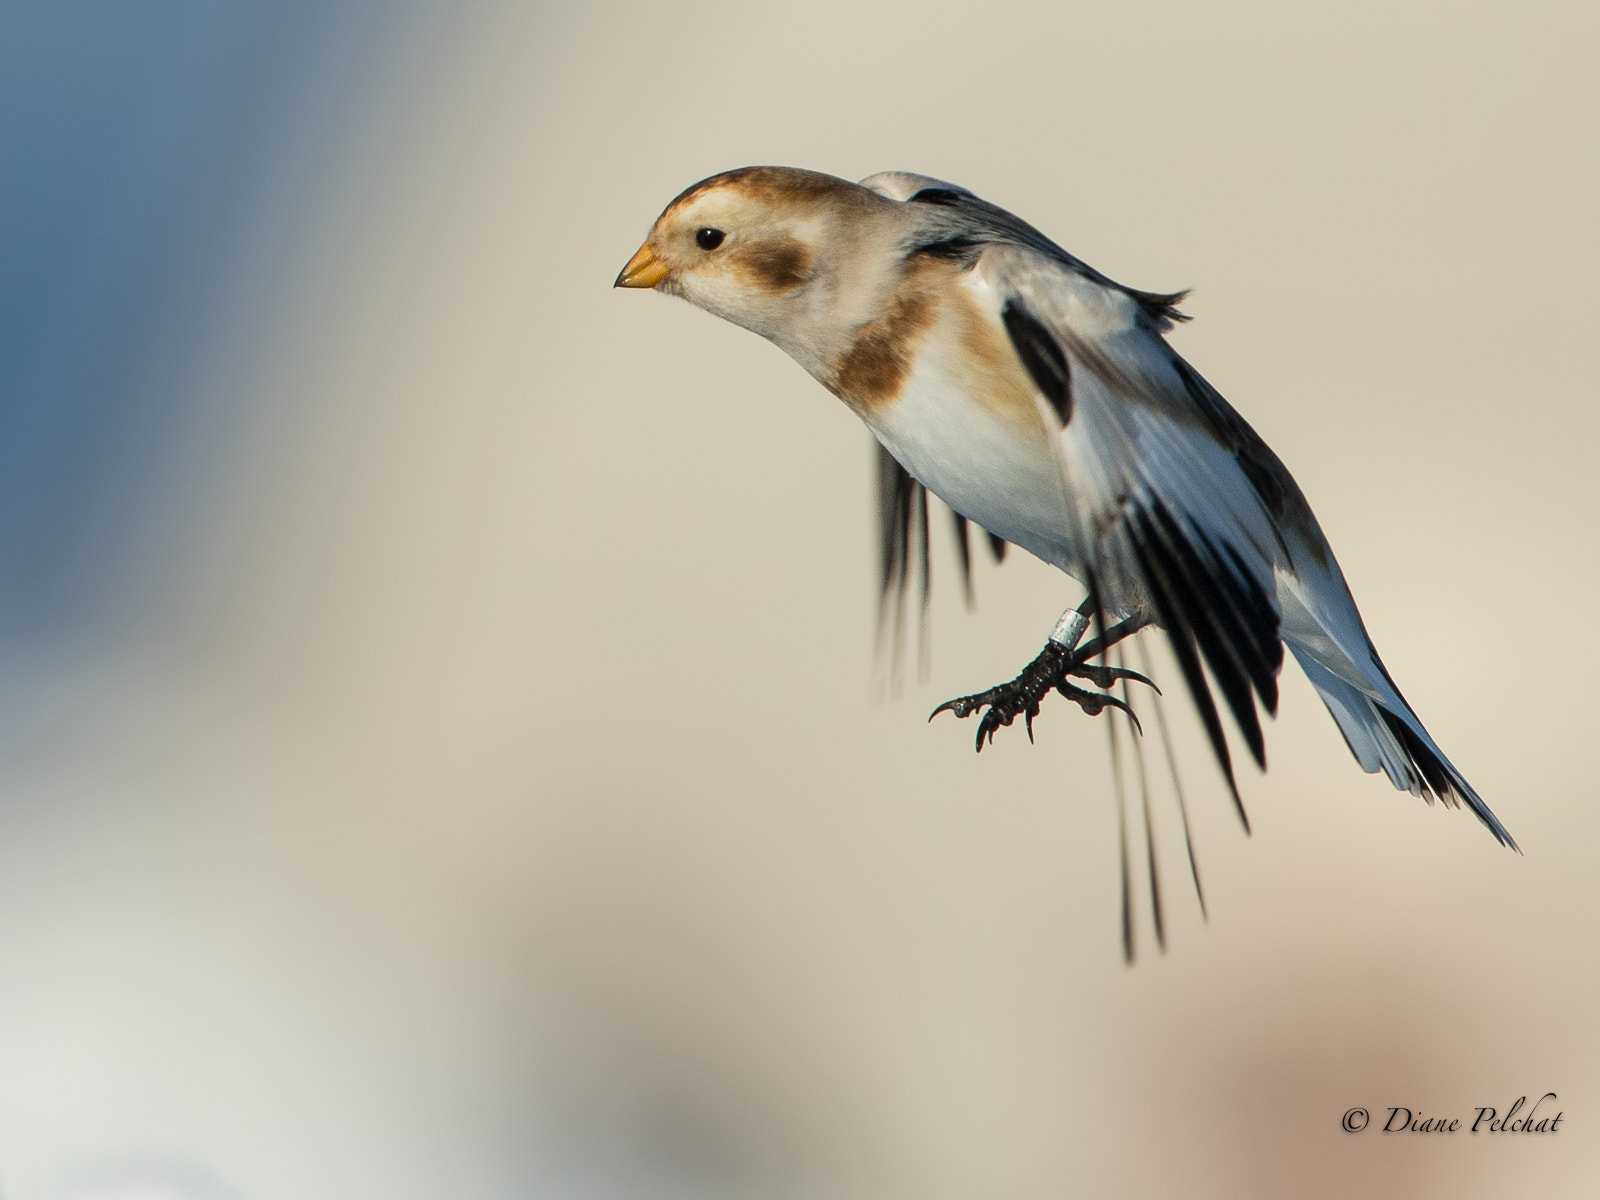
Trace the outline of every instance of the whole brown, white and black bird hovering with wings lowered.
<path fill-rule="evenodd" d="M 1018 717 L 1032 736 L 1051 693 L 1138 723 L 1130 683 L 1150 680 L 1112 654 L 1160 627 L 1248 829 L 1216 696 L 1266 770 L 1258 707 L 1277 714 L 1286 645 L 1362 770 L 1464 802 L 1517 848 L 1378 658 L 1299 485 L 1166 342 L 1184 293 L 1123 286 L 965 187 L 786 166 L 680 194 L 616 286 L 762 334 L 867 424 L 886 589 L 904 589 L 914 531 L 926 570 L 928 491 L 955 514 L 963 573 L 976 523 L 1085 587 L 1016 678 L 934 709 L 981 714 L 979 749 Z M 1126 878 L 1123 835 L 1131 957 Z"/>

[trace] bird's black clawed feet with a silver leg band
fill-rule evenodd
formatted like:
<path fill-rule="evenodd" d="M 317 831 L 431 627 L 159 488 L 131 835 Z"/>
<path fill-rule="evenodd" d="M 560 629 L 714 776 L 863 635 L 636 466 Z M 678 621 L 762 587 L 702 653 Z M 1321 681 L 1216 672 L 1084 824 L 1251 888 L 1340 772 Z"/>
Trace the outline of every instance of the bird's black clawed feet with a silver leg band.
<path fill-rule="evenodd" d="M 971 717 L 979 709 L 986 709 L 982 718 L 978 722 L 979 750 L 984 749 L 984 741 L 994 742 L 995 730 L 1002 725 L 1010 725 L 1018 717 L 1022 717 L 1022 723 L 1027 728 L 1027 739 L 1034 741 L 1034 717 L 1038 715 L 1038 706 L 1051 691 L 1059 691 L 1067 699 L 1075 701 L 1091 717 L 1098 717 L 1107 707 L 1122 709 L 1128 714 L 1128 720 L 1133 722 L 1134 728 L 1139 728 L 1139 718 L 1134 717 L 1133 709 L 1123 701 L 1104 691 L 1088 691 L 1069 682 L 1069 677 L 1077 677 L 1086 678 L 1099 688 L 1110 688 L 1117 680 L 1126 678 L 1155 688 L 1138 670 L 1093 666 L 1090 662 L 1091 658 L 1102 654 L 1107 646 L 1115 645 L 1130 634 L 1136 634 L 1147 621 L 1144 618 L 1118 621 L 1099 637 L 1078 645 L 1083 634 L 1088 632 L 1093 611 L 1094 608 L 1090 600 L 1085 600 L 1077 608 L 1069 608 L 1056 621 L 1056 627 L 1050 632 L 1045 648 L 1038 651 L 1038 656 L 1032 662 L 1022 667 L 1021 675 L 1010 683 L 1000 683 L 987 691 L 946 701 L 928 715 L 928 720 L 946 710 L 954 712 L 957 717 Z"/>

